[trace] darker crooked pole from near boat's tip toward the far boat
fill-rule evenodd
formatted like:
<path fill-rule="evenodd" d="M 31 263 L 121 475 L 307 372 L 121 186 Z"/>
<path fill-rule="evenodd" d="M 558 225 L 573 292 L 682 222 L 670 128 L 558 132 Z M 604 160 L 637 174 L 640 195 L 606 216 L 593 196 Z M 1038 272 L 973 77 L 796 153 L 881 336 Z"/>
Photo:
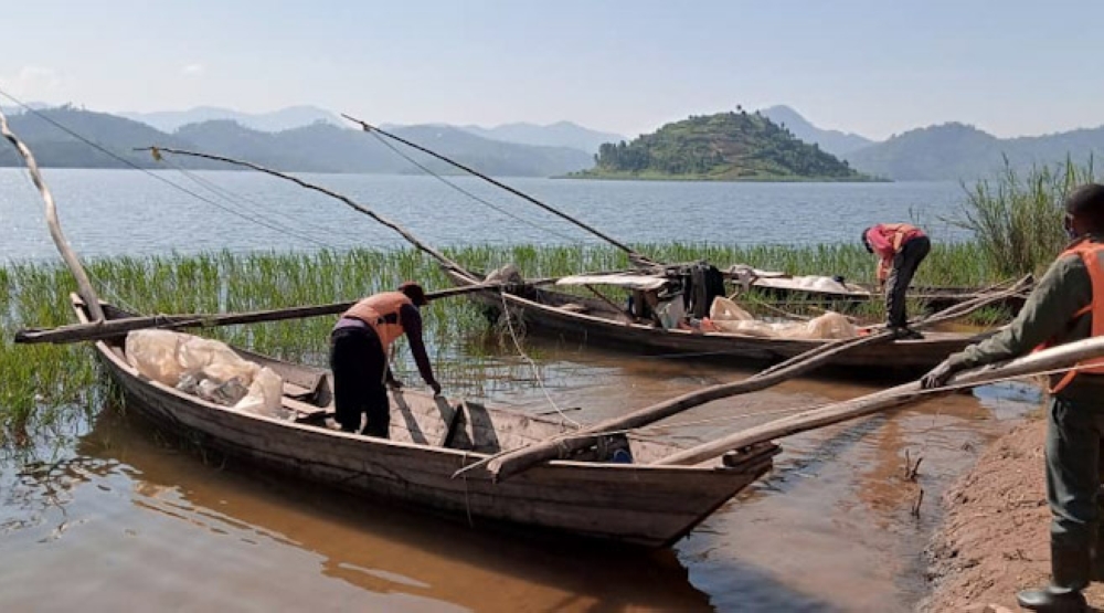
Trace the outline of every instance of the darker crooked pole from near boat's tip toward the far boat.
<path fill-rule="evenodd" d="M 944 314 L 946 313 L 952 313 L 960 317 L 974 309 L 1001 300 L 1005 298 L 1005 295 L 1006 293 L 1004 292 L 995 293 L 984 298 L 972 300 L 970 305 L 965 307 L 962 305 L 952 306 L 943 311 L 932 315 L 926 319 L 917 321 L 915 326 L 924 327 L 930 324 L 943 321 Z M 550 459 L 564 459 L 571 457 L 573 453 L 596 444 L 604 433 L 641 427 L 681 413 L 688 409 L 700 406 L 707 402 L 765 390 L 782 383 L 783 381 L 787 381 L 820 368 L 840 353 L 867 345 L 885 342 L 892 339 L 892 337 L 893 335 L 890 330 L 882 329 L 866 337 L 826 342 L 786 360 L 783 364 L 779 364 L 782 368 L 771 368 L 741 381 L 711 385 L 709 388 L 682 394 L 657 404 L 645 406 L 625 415 L 605 420 L 563 436 L 552 437 L 540 443 L 534 443 L 516 450 L 508 450 L 478 463 L 466 466 L 460 471 L 457 471 L 456 475 L 461 475 L 463 473 L 469 471 L 486 468 L 486 471 L 490 473 L 493 478 L 499 480 L 507 479 L 513 475 L 528 471 L 537 464 L 548 462 Z"/>

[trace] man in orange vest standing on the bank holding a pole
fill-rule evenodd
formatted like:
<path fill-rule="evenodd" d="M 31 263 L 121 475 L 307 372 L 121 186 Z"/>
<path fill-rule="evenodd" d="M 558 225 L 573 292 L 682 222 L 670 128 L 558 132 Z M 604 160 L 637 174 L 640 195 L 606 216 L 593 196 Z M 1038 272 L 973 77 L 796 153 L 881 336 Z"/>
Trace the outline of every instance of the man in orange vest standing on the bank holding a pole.
<path fill-rule="evenodd" d="M 1001 331 L 955 353 L 924 376 L 943 387 L 963 369 L 1030 353 L 1037 347 L 1104 336 L 1104 186 L 1082 186 L 1065 199 L 1065 230 L 1073 242 Z M 1089 611 L 1081 591 L 1104 581 L 1101 465 L 1104 438 L 1104 363 L 1050 378 L 1047 415 L 1047 499 L 1050 503 L 1050 585 L 1017 600 L 1031 611 Z"/>

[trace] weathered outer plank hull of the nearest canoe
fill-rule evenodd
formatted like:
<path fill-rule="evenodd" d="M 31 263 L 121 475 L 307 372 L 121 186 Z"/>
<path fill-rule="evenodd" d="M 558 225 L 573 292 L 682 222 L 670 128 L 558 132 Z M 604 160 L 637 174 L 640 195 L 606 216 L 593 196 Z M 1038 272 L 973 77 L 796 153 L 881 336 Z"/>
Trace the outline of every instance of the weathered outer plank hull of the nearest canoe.
<path fill-rule="evenodd" d="M 86 319 L 83 310 L 78 314 Z M 666 547 L 766 473 L 777 452 L 774 445 L 761 446 L 737 462 L 712 466 L 552 462 L 501 483 L 479 471 L 453 478 L 456 471 L 487 455 L 234 411 L 141 377 L 118 345 L 97 342 L 96 352 L 123 390 L 128 411 L 204 453 L 358 495 L 365 512 L 386 499 L 467 517 L 475 525 L 507 522 Z M 413 409 L 436 402 L 408 392 L 399 400 Z M 535 420 L 495 411 L 503 441 L 511 436 L 510 429 L 524 429 Z"/>

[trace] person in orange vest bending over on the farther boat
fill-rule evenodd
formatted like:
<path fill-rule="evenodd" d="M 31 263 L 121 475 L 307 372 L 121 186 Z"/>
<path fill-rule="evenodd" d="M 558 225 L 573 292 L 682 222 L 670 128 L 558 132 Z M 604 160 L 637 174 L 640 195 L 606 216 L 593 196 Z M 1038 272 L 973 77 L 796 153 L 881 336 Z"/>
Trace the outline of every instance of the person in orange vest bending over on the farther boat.
<path fill-rule="evenodd" d="M 878 284 L 885 287 L 887 325 L 896 338 L 924 338 L 909 328 L 904 300 L 916 267 L 932 251 L 924 232 L 907 223 L 880 223 L 862 231 L 862 244 L 878 254 Z"/>

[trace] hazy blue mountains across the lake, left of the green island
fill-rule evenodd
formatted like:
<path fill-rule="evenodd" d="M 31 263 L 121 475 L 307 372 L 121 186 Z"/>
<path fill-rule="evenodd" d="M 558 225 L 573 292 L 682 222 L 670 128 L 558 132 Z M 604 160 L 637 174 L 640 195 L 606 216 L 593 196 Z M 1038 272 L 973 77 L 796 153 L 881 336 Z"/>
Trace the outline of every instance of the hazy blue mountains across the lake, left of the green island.
<path fill-rule="evenodd" d="M 172 134 L 140 121 L 106 113 L 59 107 L 24 113 L 11 118 L 12 129 L 34 151 L 42 166 L 71 168 L 125 168 L 127 165 L 66 134 L 50 121 L 67 127 L 84 138 L 141 168 L 153 168 L 148 152 L 136 147 L 158 145 L 221 154 L 276 170 L 304 172 L 411 173 L 417 168 L 396 156 L 379 140 L 361 130 L 327 121 L 282 131 L 262 131 L 230 119 L 190 124 Z M 535 147 L 489 140 L 448 126 L 394 128 L 397 136 L 498 176 L 550 177 L 582 170 L 593 165 L 585 151 L 565 147 Z M 400 149 L 405 149 L 399 146 Z M 405 152 L 435 172 L 455 172 L 440 161 L 406 149 Z M 217 168 L 215 163 L 173 160 L 191 168 Z M 0 166 L 19 166 L 21 160 L 9 147 L 0 147 Z"/>

